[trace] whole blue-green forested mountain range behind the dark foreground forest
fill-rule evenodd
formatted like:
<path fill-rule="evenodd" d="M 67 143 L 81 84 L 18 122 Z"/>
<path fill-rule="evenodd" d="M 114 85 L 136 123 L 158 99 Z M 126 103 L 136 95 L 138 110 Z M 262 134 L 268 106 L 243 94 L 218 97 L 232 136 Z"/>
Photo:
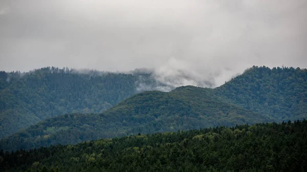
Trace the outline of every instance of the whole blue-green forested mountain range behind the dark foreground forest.
<path fill-rule="evenodd" d="M 170 92 L 140 93 L 136 85 L 140 81 L 157 85 L 150 73 L 107 73 L 89 77 L 89 74 L 58 70 L 35 70 L 12 83 L 2 82 L 0 91 L 6 96 L 1 96 L 4 97 L 1 131 L 7 132 L 2 135 L 5 138 L 0 141 L 0 149 L 32 149 L 138 133 L 307 117 L 306 69 L 253 66 L 216 88 L 184 86 Z M 61 80 L 61 76 L 66 78 Z M 3 77 L 3 81 L 6 80 Z M 33 93 L 34 90 L 41 92 Z M 47 95 L 51 98 L 46 99 Z M 33 103 L 35 97 L 41 98 Z M 57 115 L 61 113 L 68 114 Z M 39 122 L 31 126 L 28 122 L 28 128 L 24 125 L 14 131 L 5 127 L 15 121 L 23 124 L 20 119 L 31 119 L 32 124 Z M 11 134 L 17 129 L 21 130 Z"/>

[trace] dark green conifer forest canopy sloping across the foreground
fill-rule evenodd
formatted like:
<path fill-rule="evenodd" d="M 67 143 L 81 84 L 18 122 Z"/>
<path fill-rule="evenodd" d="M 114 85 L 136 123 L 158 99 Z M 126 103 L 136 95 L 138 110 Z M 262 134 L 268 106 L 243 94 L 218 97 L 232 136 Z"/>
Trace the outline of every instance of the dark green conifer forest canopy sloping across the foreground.
<path fill-rule="evenodd" d="M 0 171 L 305 171 L 307 121 L 156 133 L 0 152 Z"/>

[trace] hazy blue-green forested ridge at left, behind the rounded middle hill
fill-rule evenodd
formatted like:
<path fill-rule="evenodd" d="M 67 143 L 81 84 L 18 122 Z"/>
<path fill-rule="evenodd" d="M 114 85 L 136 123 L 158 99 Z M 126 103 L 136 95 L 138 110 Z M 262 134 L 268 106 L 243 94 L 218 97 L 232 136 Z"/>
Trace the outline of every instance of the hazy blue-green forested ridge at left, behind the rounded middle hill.
<path fill-rule="evenodd" d="M 150 83 L 146 73 L 82 73 L 55 67 L 27 73 L 2 71 L 0 138 L 65 113 L 101 113 L 136 93 L 140 76 Z"/>

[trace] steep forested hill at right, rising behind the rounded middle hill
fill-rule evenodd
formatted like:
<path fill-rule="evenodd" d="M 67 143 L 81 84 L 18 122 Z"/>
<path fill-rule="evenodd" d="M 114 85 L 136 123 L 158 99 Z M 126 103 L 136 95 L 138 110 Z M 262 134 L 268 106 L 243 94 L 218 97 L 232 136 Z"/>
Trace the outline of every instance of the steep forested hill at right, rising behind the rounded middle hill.
<path fill-rule="evenodd" d="M 307 69 L 253 66 L 214 89 L 215 95 L 276 120 L 307 117 Z"/>

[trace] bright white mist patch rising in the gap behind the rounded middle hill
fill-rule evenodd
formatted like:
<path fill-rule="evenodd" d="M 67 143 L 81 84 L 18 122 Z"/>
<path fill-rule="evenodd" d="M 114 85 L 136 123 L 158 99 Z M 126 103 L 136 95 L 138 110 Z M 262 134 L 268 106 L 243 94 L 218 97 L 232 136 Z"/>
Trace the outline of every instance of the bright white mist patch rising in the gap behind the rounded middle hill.
<path fill-rule="evenodd" d="M 159 83 L 171 89 L 186 85 L 213 88 L 224 84 L 233 75 L 233 71 L 229 68 L 210 66 L 202 60 L 198 63 L 176 58 L 170 58 L 153 73 L 153 77 Z"/>

